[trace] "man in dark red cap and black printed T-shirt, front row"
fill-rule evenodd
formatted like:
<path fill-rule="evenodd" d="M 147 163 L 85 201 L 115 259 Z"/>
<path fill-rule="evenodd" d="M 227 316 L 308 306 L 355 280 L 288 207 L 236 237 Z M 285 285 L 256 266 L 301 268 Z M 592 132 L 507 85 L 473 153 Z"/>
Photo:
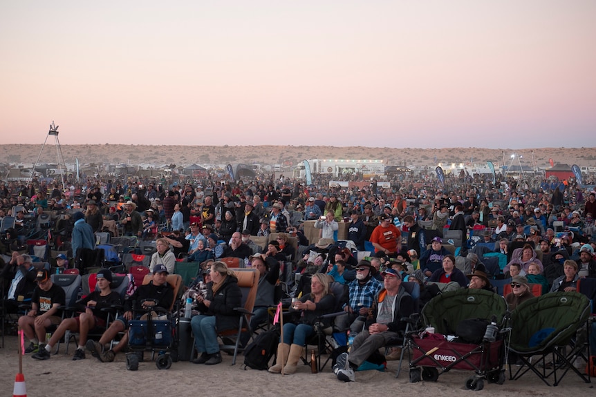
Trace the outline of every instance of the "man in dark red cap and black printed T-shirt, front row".
<path fill-rule="evenodd" d="M 31 309 L 19 318 L 19 328 L 30 340 L 25 353 L 37 353 L 39 349 L 45 348 L 46 328 L 59 325 L 62 321 L 62 310 L 59 307 L 66 304 L 64 289 L 52 282 L 49 271 L 37 271 L 35 281 L 37 287 L 33 290 Z"/>

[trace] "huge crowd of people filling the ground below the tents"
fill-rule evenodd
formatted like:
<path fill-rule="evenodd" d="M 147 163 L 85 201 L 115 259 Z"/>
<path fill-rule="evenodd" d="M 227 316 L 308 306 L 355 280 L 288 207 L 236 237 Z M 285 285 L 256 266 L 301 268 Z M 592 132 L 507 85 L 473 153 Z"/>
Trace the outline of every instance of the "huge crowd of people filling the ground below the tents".
<path fill-rule="evenodd" d="M 27 186 L 0 183 L 0 218 L 15 215 L 14 226 L 1 239 L 0 249 L 8 254 L 1 273 L 8 291 L 3 298 L 9 306 L 19 296 L 32 296 L 34 302 L 19 320 L 30 341 L 26 351 L 34 358 L 48 358 L 66 330 L 84 334 L 102 324 L 95 309 L 113 298 L 111 274 L 102 273 L 98 296 L 85 302 L 77 320 L 60 322 L 58 307 L 64 296 L 59 287 L 51 284 L 48 271 L 38 271 L 29 255 L 20 254 L 31 233 L 28 224 L 39 224 L 36 220 L 48 213 L 56 223 L 59 214 L 73 220 L 63 239 L 48 233 L 48 240 L 69 251 L 71 260 L 81 249 L 93 249 L 93 233 L 154 240 L 151 288 L 163 289 L 160 293 L 166 296 L 162 275 L 174 273 L 176 260 L 205 263 L 202 269 L 207 273 L 202 270 L 197 280 L 209 275 L 209 290 L 196 298 L 201 314 L 192 318 L 197 364 L 221 362 L 215 330 L 230 327 L 236 316 L 231 309 L 239 306 L 234 275 L 218 261 L 221 258 L 239 258 L 241 267 L 259 271 L 263 282 L 254 327 L 275 303 L 280 264 L 293 264 L 291 274 L 282 277 L 293 288 L 288 292 L 301 296 L 292 310 L 302 314 L 284 325 L 279 360 L 270 369 L 274 373 L 296 371 L 305 340 L 315 332 L 314 319 L 337 309 L 333 284 L 345 287 L 340 307 L 345 316 L 337 322 L 357 336 L 353 352 L 339 360 L 335 372 L 340 380 L 354 380 L 353 371 L 402 329 L 400 318 L 412 309 L 411 297 L 400 288 L 404 281 L 420 284 L 422 304 L 438 293 L 437 284 L 495 291 L 492 280 L 510 278 L 512 293 L 506 299 L 514 308 L 532 298 L 531 284 L 541 285 L 541 293 L 576 291 L 579 278 L 596 278 L 596 198 L 591 186 L 578 186 L 573 180 L 505 177 L 493 183 L 479 175 L 447 177 L 443 185 L 413 177 L 395 179 L 390 187 L 375 180 L 362 188 L 324 182 L 319 178 L 306 186 L 282 176 L 237 183 L 209 178 L 164 186 L 163 181 L 132 177 L 89 178 L 84 186 L 68 183 L 66 191 L 48 180 L 33 180 Z M 304 233 L 308 221 L 315 221 L 316 241 Z M 338 242 L 342 222 L 347 224 L 347 238 Z M 462 248 L 457 253 L 450 250 L 458 244 L 447 231 L 458 232 Z M 267 238 L 265 246 L 257 244 L 259 238 Z M 358 260 L 357 252 L 364 251 L 366 258 Z M 497 271 L 483 263 L 488 256 L 499 259 Z M 68 258 L 60 258 L 62 268 L 68 266 Z M 154 291 L 145 292 L 153 297 Z M 169 301 L 160 300 L 164 302 Z M 126 307 L 101 340 L 86 343 L 93 356 L 114 359 L 120 344 L 105 346 L 127 329 L 132 311 Z M 49 325 L 59 327 L 46 341 Z M 78 347 L 75 359 L 85 357 L 84 348 Z"/>

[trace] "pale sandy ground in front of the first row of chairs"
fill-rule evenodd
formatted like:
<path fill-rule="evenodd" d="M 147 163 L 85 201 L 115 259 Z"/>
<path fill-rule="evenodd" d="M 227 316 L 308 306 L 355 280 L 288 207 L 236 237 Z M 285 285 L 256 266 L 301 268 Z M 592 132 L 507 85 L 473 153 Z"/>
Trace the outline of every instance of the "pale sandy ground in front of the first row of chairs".
<path fill-rule="evenodd" d="M 59 354 L 50 360 L 23 358 L 27 395 L 44 396 L 388 396 L 399 391 L 407 396 L 456 397 L 478 396 L 591 396 L 593 383 L 586 384 L 575 374 L 568 374 L 558 387 L 548 387 L 534 374 L 526 374 L 521 380 L 506 380 L 503 385 L 485 383 L 482 391 L 465 389 L 465 379 L 470 371 L 449 371 L 438 382 L 409 383 L 407 362 L 400 378 L 395 378 L 398 362 L 390 361 L 387 372 L 361 371 L 355 383 L 339 382 L 330 366 L 319 374 L 310 374 L 310 367 L 300 366 L 290 376 L 269 374 L 266 371 L 244 370 L 242 365 L 232 366 L 232 357 L 223 357 L 220 365 L 194 365 L 190 362 L 174 362 L 169 370 L 160 371 L 147 354 L 138 371 L 127 371 L 124 354 L 116 356 L 115 362 L 102 363 L 87 354 L 86 360 L 73 362 L 73 345 L 68 356 L 64 345 Z M 239 359 L 242 362 L 243 358 Z M 0 349 L 0 396 L 11 396 L 15 376 L 19 369 L 17 338 L 8 336 L 6 345 Z"/>

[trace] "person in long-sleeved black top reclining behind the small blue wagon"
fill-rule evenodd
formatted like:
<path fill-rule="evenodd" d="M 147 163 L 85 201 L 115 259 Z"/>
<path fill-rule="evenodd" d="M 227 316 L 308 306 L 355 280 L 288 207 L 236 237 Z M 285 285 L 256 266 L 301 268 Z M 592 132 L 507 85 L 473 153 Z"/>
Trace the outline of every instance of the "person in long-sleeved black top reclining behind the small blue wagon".
<path fill-rule="evenodd" d="M 91 356 L 101 362 L 111 362 L 118 351 L 124 349 L 129 341 L 129 321 L 140 318 L 142 314 L 153 310 L 169 311 L 174 302 L 174 290 L 167 283 L 167 267 L 158 264 L 153 268 L 153 280 L 149 284 L 138 287 L 129 299 L 124 300 L 124 314 L 118 317 L 104 332 L 99 342 L 87 340 L 86 348 L 91 351 Z M 105 345 L 111 342 L 118 333 L 126 331 L 122 339 L 113 349 L 105 350 Z"/>

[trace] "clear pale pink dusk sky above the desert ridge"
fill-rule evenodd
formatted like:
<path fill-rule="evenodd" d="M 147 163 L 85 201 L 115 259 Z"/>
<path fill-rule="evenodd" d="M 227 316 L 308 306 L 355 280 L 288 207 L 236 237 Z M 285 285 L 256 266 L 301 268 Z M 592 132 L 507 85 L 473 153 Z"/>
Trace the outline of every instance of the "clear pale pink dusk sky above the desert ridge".
<path fill-rule="evenodd" d="M 596 1 L 2 1 L 0 143 L 596 146 Z"/>

